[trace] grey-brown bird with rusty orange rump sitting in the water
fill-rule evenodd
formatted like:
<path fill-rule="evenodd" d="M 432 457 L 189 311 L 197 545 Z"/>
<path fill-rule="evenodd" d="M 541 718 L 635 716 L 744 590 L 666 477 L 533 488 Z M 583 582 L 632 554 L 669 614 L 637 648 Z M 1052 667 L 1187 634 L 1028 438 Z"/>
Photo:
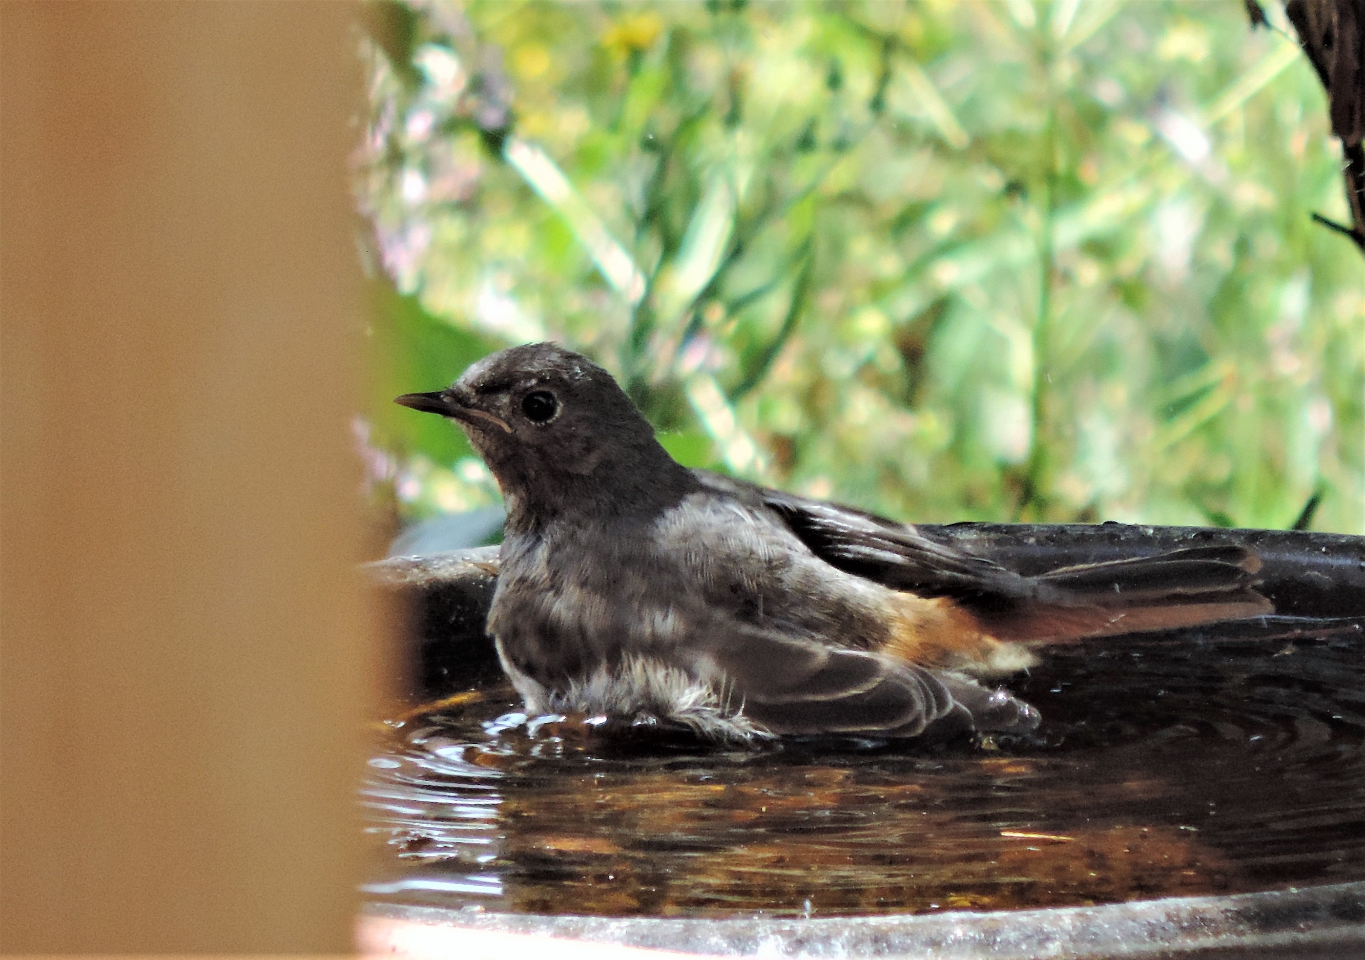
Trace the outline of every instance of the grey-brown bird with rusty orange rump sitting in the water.
<path fill-rule="evenodd" d="M 396 403 L 464 429 L 502 490 L 487 616 L 528 714 L 784 736 L 1020 733 L 1039 647 L 1253 617 L 1245 546 L 1024 575 L 898 523 L 678 464 L 612 374 L 554 343 Z"/>

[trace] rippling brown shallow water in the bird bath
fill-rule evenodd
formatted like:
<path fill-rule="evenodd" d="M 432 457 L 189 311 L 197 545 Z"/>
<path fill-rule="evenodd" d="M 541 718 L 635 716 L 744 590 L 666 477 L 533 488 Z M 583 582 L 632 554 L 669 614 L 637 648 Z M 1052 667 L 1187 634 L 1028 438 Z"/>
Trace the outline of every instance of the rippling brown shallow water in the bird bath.
<path fill-rule="evenodd" d="M 363 791 L 379 903 L 860 915 L 1365 879 L 1365 639 L 1106 640 L 1009 684 L 1024 740 L 722 752 L 511 688 L 392 724 Z"/>

